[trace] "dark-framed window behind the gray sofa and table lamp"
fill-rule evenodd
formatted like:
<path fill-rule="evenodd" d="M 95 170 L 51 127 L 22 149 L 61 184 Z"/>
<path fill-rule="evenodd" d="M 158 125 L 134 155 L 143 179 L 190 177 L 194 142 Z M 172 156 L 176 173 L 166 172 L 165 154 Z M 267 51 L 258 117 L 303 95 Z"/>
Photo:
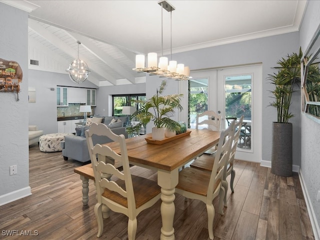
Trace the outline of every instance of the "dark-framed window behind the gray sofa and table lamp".
<path fill-rule="evenodd" d="M 112 115 L 122 115 L 122 106 L 134 106 L 131 100 L 145 100 L 145 93 L 112 95 Z"/>

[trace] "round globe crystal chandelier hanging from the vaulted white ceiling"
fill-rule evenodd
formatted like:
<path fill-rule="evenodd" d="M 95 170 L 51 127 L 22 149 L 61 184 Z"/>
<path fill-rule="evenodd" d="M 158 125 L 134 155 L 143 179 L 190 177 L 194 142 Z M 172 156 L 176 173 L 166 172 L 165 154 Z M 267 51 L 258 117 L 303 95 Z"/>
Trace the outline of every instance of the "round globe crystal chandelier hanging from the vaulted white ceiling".
<path fill-rule="evenodd" d="M 90 71 L 85 61 L 79 59 L 79 45 L 81 42 L 76 41 L 76 43 L 78 43 L 78 58 L 71 62 L 66 71 L 69 72 L 69 77 L 73 82 L 81 83 L 86 80 Z"/>

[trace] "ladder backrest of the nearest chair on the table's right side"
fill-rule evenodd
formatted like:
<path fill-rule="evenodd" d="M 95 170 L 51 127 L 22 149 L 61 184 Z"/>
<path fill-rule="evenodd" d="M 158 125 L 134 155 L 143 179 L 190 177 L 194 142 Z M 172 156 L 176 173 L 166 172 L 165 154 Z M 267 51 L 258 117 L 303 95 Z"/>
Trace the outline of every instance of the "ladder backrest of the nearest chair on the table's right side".
<path fill-rule="evenodd" d="M 210 196 L 214 192 L 218 191 L 219 187 L 221 186 L 222 176 L 226 165 L 225 163 L 229 158 L 229 146 L 232 141 L 233 130 L 234 121 L 232 121 L 230 125 L 220 133 L 220 139 L 217 145 L 215 159 L 213 161 L 207 196 Z M 216 182 L 220 182 L 220 184 L 217 185 Z M 214 187 L 215 185 L 217 187 Z"/>

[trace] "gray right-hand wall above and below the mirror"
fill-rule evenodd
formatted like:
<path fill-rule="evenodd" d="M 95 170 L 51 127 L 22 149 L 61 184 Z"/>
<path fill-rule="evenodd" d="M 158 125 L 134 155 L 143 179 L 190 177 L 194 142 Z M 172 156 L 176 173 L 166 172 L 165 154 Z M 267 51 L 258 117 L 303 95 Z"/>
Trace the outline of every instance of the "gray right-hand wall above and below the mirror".
<path fill-rule="evenodd" d="M 303 51 L 310 43 L 311 37 L 320 26 L 320 1 L 308 1 L 300 29 L 300 44 Z M 301 165 L 302 184 L 306 187 L 309 202 L 314 210 L 316 221 L 320 221 L 320 204 L 316 195 L 320 189 L 320 124 L 301 115 Z M 317 227 L 318 224 L 317 224 Z M 318 233 L 319 234 L 319 233 Z M 319 236 L 318 236 L 319 237 Z"/>

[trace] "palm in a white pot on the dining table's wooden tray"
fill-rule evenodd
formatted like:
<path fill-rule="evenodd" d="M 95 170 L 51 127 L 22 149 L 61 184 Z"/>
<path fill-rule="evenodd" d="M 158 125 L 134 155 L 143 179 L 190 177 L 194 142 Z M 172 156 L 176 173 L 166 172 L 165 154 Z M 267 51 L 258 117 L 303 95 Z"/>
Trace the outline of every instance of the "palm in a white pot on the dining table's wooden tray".
<path fill-rule="evenodd" d="M 145 126 L 150 121 L 154 123 L 154 127 L 152 127 L 152 139 L 154 140 L 164 139 L 165 127 L 172 131 L 179 130 L 180 123 L 170 117 L 174 115 L 175 109 L 182 110 L 180 104 L 182 96 L 183 94 L 162 96 L 157 91 L 155 95 L 147 100 L 132 100 L 139 104 L 139 109 L 131 115 L 131 118 L 135 118 L 139 123 L 133 127 L 127 127 L 127 132 L 139 132 L 141 126 Z"/>

